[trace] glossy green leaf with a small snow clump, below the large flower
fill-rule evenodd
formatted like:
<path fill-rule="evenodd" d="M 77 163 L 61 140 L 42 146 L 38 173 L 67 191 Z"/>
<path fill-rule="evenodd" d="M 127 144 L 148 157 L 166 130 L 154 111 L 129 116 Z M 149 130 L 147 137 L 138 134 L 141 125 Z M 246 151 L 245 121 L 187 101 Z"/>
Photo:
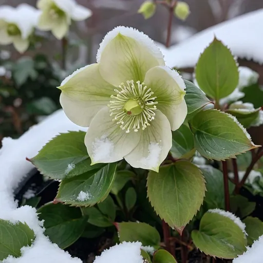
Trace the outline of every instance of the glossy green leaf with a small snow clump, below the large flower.
<path fill-rule="evenodd" d="M 77 206 L 92 206 L 102 202 L 109 194 L 115 179 L 117 163 L 109 163 L 100 170 L 64 179 L 55 201 Z"/>

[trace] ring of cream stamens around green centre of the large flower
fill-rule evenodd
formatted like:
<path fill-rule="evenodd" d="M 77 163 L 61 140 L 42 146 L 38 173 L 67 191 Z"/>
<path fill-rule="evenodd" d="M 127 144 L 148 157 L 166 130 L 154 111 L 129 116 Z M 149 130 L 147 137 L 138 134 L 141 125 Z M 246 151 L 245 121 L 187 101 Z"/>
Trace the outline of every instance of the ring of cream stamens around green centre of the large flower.
<path fill-rule="evenodd" d="M 108 104 L 110 116 L 114 116 L 112 121 L 116 121 L 121 129 L 126 129 L 126 133 L 131 129 L 135 132 L 140 128 L 144 130 L 154 120 L 157 109 L 157 97 L 154 97 L 152 89 L 140 81 L 136 84 L 133 80 L 121 83 L 119 89 L 114 90 L 117 95 L 111 95 L 112 100 Z"/>

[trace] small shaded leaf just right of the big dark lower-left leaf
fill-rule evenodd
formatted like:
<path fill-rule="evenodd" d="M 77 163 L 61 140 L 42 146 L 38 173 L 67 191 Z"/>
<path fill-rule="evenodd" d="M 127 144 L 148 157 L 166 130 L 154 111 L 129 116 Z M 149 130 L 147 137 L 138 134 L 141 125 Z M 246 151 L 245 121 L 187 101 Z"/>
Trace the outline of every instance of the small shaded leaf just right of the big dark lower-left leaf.
<path fill-rule="evenodd" d="M 104 215 L 95 206 L 91 206 L 88 208 L 83 207 L 81 208 L 81 210 L 83 215 L 88 216 L 88 222 L 93 226 L 106 228 L 111 227 L 113 224 L 113 221 L 107 215 Z"/>

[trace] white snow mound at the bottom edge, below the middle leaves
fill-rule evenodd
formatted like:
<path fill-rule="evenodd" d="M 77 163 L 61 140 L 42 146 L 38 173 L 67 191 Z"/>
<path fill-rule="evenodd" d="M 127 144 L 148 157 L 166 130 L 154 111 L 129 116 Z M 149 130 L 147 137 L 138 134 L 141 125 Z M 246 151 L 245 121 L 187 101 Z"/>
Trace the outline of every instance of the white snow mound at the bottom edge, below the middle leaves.
<path fill-rule="evenodd" d="M 122 242 L 119 245 L 104 250 L 93 263 L 143 263 L 141 242 Z"/>

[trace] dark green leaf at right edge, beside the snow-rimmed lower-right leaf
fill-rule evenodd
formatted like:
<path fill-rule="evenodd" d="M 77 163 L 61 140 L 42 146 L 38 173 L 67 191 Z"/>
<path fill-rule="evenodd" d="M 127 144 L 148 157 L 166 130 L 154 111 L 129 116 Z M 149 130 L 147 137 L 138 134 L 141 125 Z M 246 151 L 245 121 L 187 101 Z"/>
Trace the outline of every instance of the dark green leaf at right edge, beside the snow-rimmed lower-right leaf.
<path fill-rule="evenodd" d="M 256 217 L 248 216 L 243 220 L 243 223 L 246 224 L 248 246 L 251 246 L 255 240 L 263 235 L 263 222 Z"/>

